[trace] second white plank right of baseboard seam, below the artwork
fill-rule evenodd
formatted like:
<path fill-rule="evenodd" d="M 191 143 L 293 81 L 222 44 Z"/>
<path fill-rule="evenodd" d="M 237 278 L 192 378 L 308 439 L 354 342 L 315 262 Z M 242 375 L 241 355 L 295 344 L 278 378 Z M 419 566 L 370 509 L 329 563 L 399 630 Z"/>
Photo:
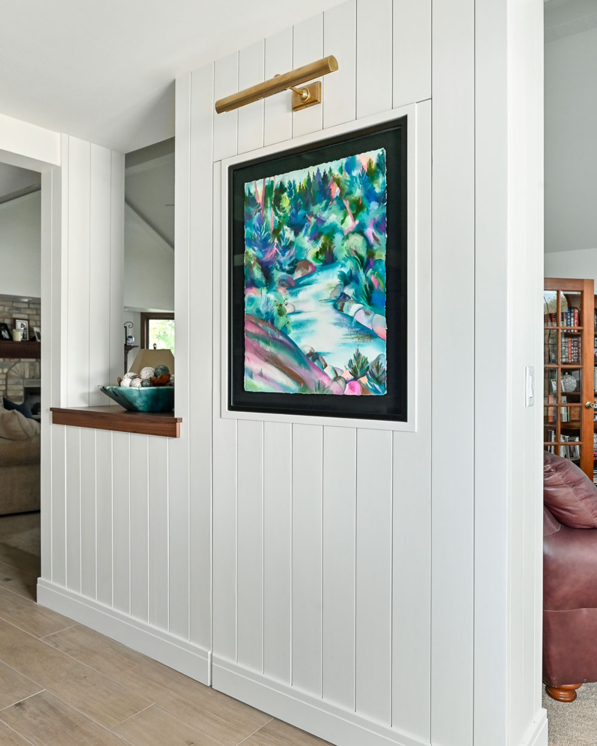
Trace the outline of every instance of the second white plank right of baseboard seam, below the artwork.
<path fill-rule="evenodd" d="M 263 671 L 263 422 L 238 421 L 237 662 Z"/>

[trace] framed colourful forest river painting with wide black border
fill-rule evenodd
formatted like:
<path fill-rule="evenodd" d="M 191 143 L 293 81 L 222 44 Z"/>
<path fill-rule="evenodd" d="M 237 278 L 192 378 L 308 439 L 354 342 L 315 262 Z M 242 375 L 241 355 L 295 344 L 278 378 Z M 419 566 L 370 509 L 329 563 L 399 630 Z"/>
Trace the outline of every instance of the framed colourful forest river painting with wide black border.
<path fill-rule="evenodd" d="M 407 421 L 407 117 L 227 166 L 230 412 Z"/>

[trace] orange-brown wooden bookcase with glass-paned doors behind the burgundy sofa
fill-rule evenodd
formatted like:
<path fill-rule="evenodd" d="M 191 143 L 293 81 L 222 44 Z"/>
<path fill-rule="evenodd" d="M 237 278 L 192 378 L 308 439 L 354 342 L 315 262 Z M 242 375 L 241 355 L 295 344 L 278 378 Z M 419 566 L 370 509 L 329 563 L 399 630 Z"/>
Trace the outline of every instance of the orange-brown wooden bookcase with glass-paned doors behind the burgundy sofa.
<path fill-rule="evenodd" d="M 543 447 L 593 480 L 593 280 L 546 278 L 543 302 Z"/>

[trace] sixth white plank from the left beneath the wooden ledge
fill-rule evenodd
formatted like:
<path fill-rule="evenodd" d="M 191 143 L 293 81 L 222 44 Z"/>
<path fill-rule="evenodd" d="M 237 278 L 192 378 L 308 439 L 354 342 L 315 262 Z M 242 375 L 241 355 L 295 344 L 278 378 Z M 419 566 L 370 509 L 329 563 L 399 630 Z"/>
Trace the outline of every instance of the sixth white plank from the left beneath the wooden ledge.
<path fill-rule="evenodd" d="M 149 621 L 149 437 L 131 434 L 131 616 Z"/>

